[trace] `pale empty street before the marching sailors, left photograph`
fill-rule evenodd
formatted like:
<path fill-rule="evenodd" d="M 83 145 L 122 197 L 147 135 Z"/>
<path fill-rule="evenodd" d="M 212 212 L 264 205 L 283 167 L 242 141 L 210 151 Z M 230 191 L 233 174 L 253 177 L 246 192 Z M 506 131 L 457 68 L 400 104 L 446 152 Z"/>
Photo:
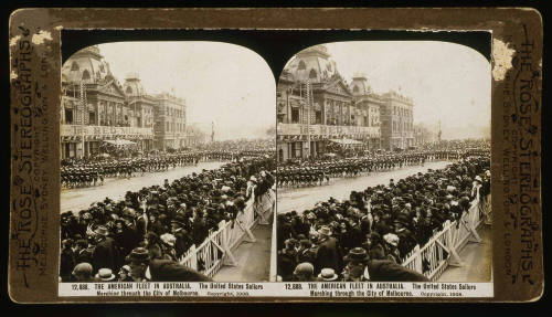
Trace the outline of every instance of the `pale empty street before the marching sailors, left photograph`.
<path fill-rule="evenodd" d="M 163 184 L 164 179 L 172 181 L 192 172 L 201 172 L 202 169 L 216 169 L 222 165 L 224 162 L 200 162 L 198 166 L 177 167 L 162 172 L 148 172 L 130 179 L 109 178 L 105 180 L 103 186 L 97 187 L 62 189 L 60 210 L 61 212 L 68 210 L 77 212 L 106 197 L 119 200 L 125 197 L 127 191 L 138 191 L 144 187 Z"/>

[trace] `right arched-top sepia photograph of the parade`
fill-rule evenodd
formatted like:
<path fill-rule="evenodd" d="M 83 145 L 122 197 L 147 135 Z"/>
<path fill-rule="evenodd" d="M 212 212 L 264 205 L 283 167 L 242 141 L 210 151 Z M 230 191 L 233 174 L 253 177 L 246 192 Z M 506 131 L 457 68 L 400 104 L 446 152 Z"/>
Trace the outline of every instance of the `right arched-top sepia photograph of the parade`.
<path fill-rule="evenodd" d="M 490 56 L 319 44 L 276 95 L 278 281 L 492 282 Z"/>

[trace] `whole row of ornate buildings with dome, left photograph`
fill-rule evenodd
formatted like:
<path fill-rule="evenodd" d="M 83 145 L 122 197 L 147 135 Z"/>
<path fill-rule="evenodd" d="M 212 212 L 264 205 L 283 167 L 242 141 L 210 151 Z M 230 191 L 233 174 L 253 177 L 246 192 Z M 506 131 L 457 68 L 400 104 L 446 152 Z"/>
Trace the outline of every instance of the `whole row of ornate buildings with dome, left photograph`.
<path fill-rule="evenodd" d="M 76 52 L 64 63 L 60 116 L 62 158 L 94 156 L 103 142 L 116 140 L 132 144 L 140 151 L 184 144 L 172 140 L 185 136 L 185 103 L 169 94 L 146 94 L 137 74 L 129 74 L 121 85 L 96 45 Z M 156 134 L 158 121 L 171 130 Z"/>

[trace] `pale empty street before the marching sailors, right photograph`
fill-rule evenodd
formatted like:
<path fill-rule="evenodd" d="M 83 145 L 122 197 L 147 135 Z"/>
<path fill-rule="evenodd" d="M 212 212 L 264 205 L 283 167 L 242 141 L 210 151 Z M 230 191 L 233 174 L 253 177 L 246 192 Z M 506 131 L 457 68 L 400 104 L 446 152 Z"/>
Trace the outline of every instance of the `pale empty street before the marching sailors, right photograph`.
<path fill-rule="evenodd" d="M 276 208 L 278 213 L 285 213 L 296 210 L 298 213 L 312 208 L 318 201 L 326 201 L 330 197 L 336 199 L 349 199 L 352 190 L 362 191 L 367 187 L 378 184 L 389 184 L 390 179 L 396 182 L 417 172 L 426 172 L 427 169 L 439 169 L 448 165 L 447 161 L 426 162 L 424 166 L 407 166 L 400 169 L 371 172 L 367 176 L 355 178 L 335 178 L 330 179 L 329 184 L 305 188 L 285 188 L 279 189 L 277 193 Z"/>

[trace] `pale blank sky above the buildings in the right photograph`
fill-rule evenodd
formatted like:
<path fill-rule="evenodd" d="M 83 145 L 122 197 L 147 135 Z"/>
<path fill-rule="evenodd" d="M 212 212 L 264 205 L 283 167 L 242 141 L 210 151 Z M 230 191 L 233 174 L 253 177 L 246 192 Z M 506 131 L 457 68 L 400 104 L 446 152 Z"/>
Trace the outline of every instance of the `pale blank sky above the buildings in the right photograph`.
<path fill-rule="evenodd" d="M 357 72 L 375 93 L 394 89 L 414 102 L 414 123 L 436 125 L 443 138 L 490 136 L 491 66 L 479 52 L 437 41 L 328 43 L 339 73 Z"/>

